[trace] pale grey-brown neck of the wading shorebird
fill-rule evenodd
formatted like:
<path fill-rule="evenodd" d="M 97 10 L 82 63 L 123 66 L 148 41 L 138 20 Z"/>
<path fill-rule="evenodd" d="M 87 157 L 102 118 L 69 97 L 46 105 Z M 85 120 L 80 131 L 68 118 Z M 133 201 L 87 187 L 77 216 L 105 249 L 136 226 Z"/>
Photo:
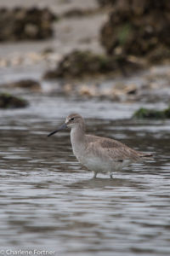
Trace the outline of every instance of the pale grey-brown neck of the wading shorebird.
<path fill-rule="evenodd" d="M 85 127 L 83 124 L 71 129 L 71 144 L 74 154 L 85 147 Z"/>

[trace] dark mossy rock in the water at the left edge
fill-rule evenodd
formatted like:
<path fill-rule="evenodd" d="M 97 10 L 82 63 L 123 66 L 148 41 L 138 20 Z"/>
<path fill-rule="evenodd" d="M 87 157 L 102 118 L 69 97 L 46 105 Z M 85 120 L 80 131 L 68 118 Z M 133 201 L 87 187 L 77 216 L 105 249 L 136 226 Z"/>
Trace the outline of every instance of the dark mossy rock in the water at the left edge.
<path fill-rule="evenodd" d="M 0 108 L 26 108 L 28 102 L 8 93 L 0 93 Z"/>

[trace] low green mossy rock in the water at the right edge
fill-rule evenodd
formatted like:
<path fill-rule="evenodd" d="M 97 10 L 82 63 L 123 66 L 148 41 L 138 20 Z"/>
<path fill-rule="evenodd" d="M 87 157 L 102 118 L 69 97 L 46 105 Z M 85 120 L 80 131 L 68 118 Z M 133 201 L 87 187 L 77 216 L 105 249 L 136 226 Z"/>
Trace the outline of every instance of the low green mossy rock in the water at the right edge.
<path fill-rule="evenodd" d="M 164 110 L 139 108 L 133 118 L 137 119 L 170 119 L 170 107 Z"/>

